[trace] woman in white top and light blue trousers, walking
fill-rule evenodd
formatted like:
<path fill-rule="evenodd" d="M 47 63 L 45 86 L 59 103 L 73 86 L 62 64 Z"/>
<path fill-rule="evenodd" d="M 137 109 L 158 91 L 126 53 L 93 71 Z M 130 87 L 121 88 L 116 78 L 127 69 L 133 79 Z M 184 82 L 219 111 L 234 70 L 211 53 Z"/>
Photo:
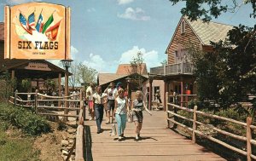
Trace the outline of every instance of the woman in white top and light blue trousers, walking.
<path fill-rule="evenodd" d="M 122 141 L 126 126 L 127 110 L 129 111 L 129 107 L 127 106 L 127 100 L 124 96 L 124 89 L 119 89 L 118 94 L 118 97 L 114 101 L 113 113 L 118 124 L 119 141 Z"/>

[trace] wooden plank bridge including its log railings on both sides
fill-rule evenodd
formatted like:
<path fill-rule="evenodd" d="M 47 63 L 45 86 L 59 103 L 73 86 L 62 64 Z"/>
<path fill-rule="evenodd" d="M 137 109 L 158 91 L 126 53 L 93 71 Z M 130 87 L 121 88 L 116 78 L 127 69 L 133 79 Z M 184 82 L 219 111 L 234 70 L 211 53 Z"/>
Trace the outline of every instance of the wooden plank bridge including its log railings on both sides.
<path fill-rule="evenodd" d="M 15 97 L 11 97 L 9 102 L 15 106 L 27 106 L 34 109 L 34 112 L 41 115 L 49 116 L 61 116 L 61 117 L 74 117 L 78 118 L 78 128 L 76 141 L 73 147 L 69 150 L 67 159 L 73 152 L 75 147 L 75 158 L 78 161 L 101 161 L 101 160 L 225 160 L 217 154 L 208 151 L 205 147 L 201 147 L 196 144 L 196 136 L 207 138 L 207 140 L 213 141 L 227 149 L 234 151 L 244 157 L 247 157 L 247 161 L 256 160 L 255 147 L 256 147 L 256 126 L 252 123 L 252 118 L 247 118 L 247 123 L 243 123 L 231 118 L 224 118 L 210 113 L 197 111 L 197 106 L 194 109 L 189 109 L 183 106 L 177 106 L 172 103 L 166 103 L 166 112 L 153 111 L 153 116 L 144 113 L 143 129 L 141 132 L 142 139 L 140 141 L 134 141 L 135 139 L 135 125 L 133 123 L 127 123 L 125 129 L 125 139 L 118 141 L 118 136 L 110 136 L 112 124 L 105 124 L 102 122 L 103 132 L 96 133 L 96 121 L 84 121 L 86 111 L 84 108 L 84 101 L 82 101 L 82 92 L 79 95 L 68 95 L 63 97 L 41 95 L 36 93 L 17 93 Z M 34 95 L 35 100 L 23 101 L 19 95 Z M 41 99 L 38 99 L 40 97 Z M 76 99 L 74 99 L 77 96 Z M 168 100 L 168 99 L 166 99 Z M 40 103 L 41 102 L 41 103 Z M 61 102 L 69 106 L 59 106 Z M 76 103 L 75 103 L 76 102 Z M 51 103 L 51 106 L 47 105 Z M 26 105 L 28 104 L 28 105 Z M 55 106 L 56 105 L 56 106 Z M 68 104 L 67 104 L 68 105 Z M 49 109 L 45 111 L 44 109 Z M 41 112 L 44 110 L 45 112 Z M 55 112 L 52 112 L 55 111 Z M 57 110 L 57 111 L 56 111 Z M 60 112 L 60 110 L 63 112 Z M 73 112 L 69 112 L 73 111 Z M 179 112 L 187 112 L 187 117 L 180 115 Z M 198 115 L 198 116 L 197 116 Z M 212 124 L 208 124 L 204 120 L 197 117 L 207 117 L 208 119 L 217 119 L 221 122 L 227 122 L 227 124 L 234 124 L 240 126 L 240 130 L 245 130 L 246 134 L 238 132 L 240 134 L 234 134 L 229 132 L 229 129 L 223 129 L 222 127 L 214 127 Z M 189 124 L 183 124 L 183 121 L 189 122 Z M 188 129 L 192 134 L 192 141 L 182 135 L 178 135 L 173 132 L 171 127 L 175 124 L 175 127 L 183 127 Z M 200 126 L 197 127 L 197 126 Z M 233 140 L 243 142 L 242 144 L 235 145 L 234 142 L 221 141 L 218 138 L 212 137 L 201 130 L 201 127 L 207 128 L 207 133 L 210 130 L 218 132 L 221 135 L 225 135 L 226 138 L 232 138 Z M 227 158 L 230 159 L 230 158 Z"/>

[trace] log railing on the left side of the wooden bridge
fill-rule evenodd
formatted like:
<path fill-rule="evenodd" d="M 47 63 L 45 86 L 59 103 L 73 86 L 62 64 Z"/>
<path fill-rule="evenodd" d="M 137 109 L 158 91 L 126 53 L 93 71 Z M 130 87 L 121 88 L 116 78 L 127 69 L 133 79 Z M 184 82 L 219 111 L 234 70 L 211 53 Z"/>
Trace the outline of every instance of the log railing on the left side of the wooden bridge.
<path fill-rule="evenodd" d="M 31 101 L 24 101 L 20 98 L 19 95 L 34 95 L 34 100 Z M 74 99 L 79 96 L 79 99 Z M 39 98 L 40 97 L 40 98 Z M 65 106 L 65 101 L 73 104 L 79 102 L 79 107 L 73 106 Z M 60 105 L 62 102 L 63 106 L 50 106 L 52 105 Z M 69 160 L 71 154 L 75 148 L 75 160 L 76 161 L 84 161 L 84 120 L 85 120 L 85 108 L 84 108 L 84 101 L 83 101 L 83 93 L 80 90 L 78 95 L 68 95 L 68 96 L 50 96 L 50 95 L 43 95 L 36 91 L 35 93 L 18 93 L 15 91 L 15 96 L 11 96 L 9 98 L 9 103 L 13 104 L 14 106 L 26 106 L 34 108 L 34 112 L 40 115 L 49 115 L 49 116 L 62 116 L 62 117 L 74 117 L 78 118 L 78 128 L 76 133 L 76 138 L 73 144 L 73 147 L 69 150 L 67 154 L 66 160 Z M 27 105 L 29 103 L 29 105 Z M 39 112 L 40 109 L 49 109 L 49 110 L 68 110 L 73 111 L 76 110 L 79 112 L 78 115 L 69 115 L 69 114 L 59 114 L 59 113 L 49 113 L 49 112 Z"/>

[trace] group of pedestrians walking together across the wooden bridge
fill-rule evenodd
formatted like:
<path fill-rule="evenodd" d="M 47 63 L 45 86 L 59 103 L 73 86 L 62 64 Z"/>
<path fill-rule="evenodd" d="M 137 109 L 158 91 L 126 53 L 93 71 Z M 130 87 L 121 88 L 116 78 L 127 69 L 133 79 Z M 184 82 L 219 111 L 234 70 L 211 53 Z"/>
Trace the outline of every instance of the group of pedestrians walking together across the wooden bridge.
<path fill-rule="evenodd" d="M 90 83 L 90 86 L 86 89 L 86 98 L 90 109 L 90 120 L 93 120 L 94 117 L 96 119 L 97 134 L 102 133 L 102 119 L 105 108 L 107 115 L 106 124 L 113 123 L 113 118 L 117 122 L 118 141 L 122 141 L 125 138 L 124 133 L 128 113 L 131 113 L 136 127 L 135 141 L 139 141 L 140 131 L 143 127 L 143 109 L 152 115 L 147 106 L 145 106 L 142 91 L 137 90 L 136 99 L 131 102 L 131 108 L 127 91 L 121 87 L 121 83 L 117 83 L 116 87 L 114 83 L 110 83 L 103 93 L 101 86 L 95 88 L 94 84 Z"/>

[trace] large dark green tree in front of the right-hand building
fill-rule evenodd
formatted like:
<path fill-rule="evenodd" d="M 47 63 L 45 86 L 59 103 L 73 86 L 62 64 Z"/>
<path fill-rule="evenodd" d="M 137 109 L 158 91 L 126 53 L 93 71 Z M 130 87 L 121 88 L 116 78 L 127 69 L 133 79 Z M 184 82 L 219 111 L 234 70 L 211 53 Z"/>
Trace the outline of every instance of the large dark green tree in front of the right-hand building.
<path fill-rule="evenodd" d="M 256 28 L 235 27 L 226 41 L 212 46 L 211 53 L 190 52 L 201 100 L 228 107 L 256 95 Z"/>

